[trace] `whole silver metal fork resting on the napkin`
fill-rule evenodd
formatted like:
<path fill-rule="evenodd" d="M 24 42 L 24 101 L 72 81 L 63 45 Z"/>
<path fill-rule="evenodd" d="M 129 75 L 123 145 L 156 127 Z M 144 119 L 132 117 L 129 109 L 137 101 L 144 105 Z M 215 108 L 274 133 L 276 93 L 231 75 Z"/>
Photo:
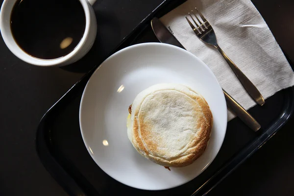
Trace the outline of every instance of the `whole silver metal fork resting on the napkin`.
<path fill-rule="evenodd" d="M 208 23 L 208 21 L 204 18 L 204 16 L 195 8 L 198 12 L 200 18 L 202 21 L 199 20 L 199 18 L 196 16 L 196 14 L 193 12 L 194 17 L 196 18 L 197 22 L 194 20 L 192 15 L 188 13 L 195 23 L 196 27 L 191 23 L 191 21 L 185 16 L 187 19 L 189 25 L 193 29 L 193 31 L 196 33 L 197 37 L 215 48 L 217 48 L 223 58 L 226 60 L 226 62 L 229 64 L 230 68 L 233 70 L 233 72 L 236 74 L 237 78 L 240 80 L 241 84 L 244 86 L 247 93 L 257 102 L 259 105 L 263 105 L 265 103 L 264 98 L 262 97 L 261 93 L 258 91 L 258 89 L 254 86 L 254 84 L 246 77 L 246 75 L 233 63 L 233 61 L 222 51 L 222 49 L 219 47 L 217 43 L 217 37 L 216 34 L 212 28 L 212 26 Z"/>

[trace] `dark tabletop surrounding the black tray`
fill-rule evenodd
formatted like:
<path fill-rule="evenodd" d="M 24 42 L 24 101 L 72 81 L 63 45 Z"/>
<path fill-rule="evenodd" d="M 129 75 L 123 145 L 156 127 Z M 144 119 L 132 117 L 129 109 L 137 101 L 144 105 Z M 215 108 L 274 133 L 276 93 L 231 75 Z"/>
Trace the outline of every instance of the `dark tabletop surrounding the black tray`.
<path fill-rule="evenodd" d="M 294 1 L 252 0 L 280 46 L 294 59 Z M 1 3 L 3 0 L 0 1 Z M 43 114 L 92 66 L 100 63 L 162 0 L 98 0 L 98 36 L 80 61 L 37 67 L 15 57 L 0 40 L 0 195 L 64 196 L 35 149 Z M 294 118 L 209 195 L 294 195 Z"/>

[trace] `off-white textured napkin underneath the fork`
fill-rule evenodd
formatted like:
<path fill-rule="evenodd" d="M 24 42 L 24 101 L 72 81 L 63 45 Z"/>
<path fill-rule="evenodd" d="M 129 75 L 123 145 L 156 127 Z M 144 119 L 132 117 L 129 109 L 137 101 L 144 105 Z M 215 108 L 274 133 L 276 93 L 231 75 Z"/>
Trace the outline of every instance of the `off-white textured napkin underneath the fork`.
<path fill-rule="evenodd" d="M 219 51 L 201 42 L 185 19 L 197 7 L 215 30 L 219 46 L 264 98 L 294 85 L 294 73 L 268 25 L 250 0 L 188 0 L 160 20 L 216 75 L 245 109 L 256 105 Z M 267 101 L 266 101 L 267 104 Z M 228 120 L 235 117 L 228 111 Z"/>

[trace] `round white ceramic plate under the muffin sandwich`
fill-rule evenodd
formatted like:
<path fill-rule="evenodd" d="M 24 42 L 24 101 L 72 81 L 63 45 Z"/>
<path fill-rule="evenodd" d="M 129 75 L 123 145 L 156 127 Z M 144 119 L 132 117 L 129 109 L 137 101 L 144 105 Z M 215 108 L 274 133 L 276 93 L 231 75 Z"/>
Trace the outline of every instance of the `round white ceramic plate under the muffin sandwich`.
<path fill-rule="evenodd" d="M 171 172 L 141 156 L 127 137 L 128 106 L 158 83 L 192 87 L 206 99 L 214 118 L 202 156 Z M 131 187 L 162 190 L 192 180 L 213 161 L 224 139 L 227 108 L 216 77 L 200 59 L 178 47 L 146 43 L 122 49 L 100 65 L 84 90 L 79 121 L 84 143 L 104 172 Z"/>

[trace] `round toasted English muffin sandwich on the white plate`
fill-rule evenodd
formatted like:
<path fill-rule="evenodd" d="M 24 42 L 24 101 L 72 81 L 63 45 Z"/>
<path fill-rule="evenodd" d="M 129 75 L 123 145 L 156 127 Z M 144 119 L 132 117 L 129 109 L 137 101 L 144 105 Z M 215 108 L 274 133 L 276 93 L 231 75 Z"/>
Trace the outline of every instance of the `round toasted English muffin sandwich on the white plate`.
<path fill-rule="evenodd" d="M 190 165 L 209 141 L 212 113 L 205 99 L 187 86 L 151 86 L 137 95 L 129 112 L 129 140 L 141 155 L 159 165 Z"/>

